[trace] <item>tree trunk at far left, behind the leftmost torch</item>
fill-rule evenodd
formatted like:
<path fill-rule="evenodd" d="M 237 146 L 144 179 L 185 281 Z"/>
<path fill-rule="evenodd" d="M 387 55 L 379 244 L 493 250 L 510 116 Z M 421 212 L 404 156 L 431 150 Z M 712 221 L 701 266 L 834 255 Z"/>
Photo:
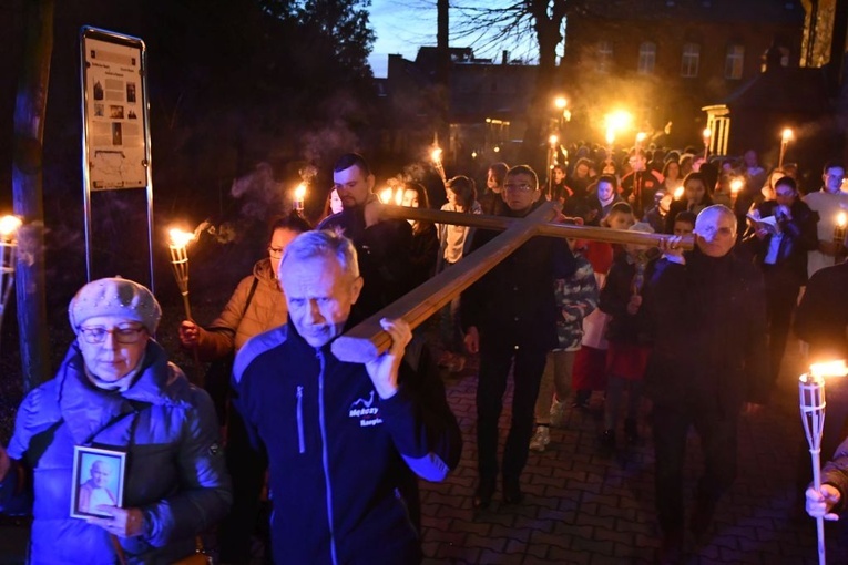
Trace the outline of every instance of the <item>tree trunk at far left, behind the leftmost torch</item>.
<path fill-rule="evenodd" d="M 54 0 L 23 2 L 25 44 L 14 104 L 12 197 L 23 220 L 18 233 L 16 299 L 23 388 L 51 374 L 44 296 L 44 205 L 42 162 L 50 55 L 53 50 Z"/>

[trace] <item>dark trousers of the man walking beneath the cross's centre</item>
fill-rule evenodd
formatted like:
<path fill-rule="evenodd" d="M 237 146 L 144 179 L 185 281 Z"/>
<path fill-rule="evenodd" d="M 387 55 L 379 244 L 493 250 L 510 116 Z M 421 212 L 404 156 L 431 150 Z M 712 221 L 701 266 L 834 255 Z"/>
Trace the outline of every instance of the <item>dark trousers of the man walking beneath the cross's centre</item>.
<path fill-rule="evenodd" d="M 514 360 L 512 423 L 503 451 L 503 481 L 518 483 L 527 464 L 533 434 L 533 408 L 546 355 L 548 351 L 540 348 L 498 348 L 481 343 L 477 384 L 477 458 L 481 482 L 494 484 L 498 476 L 498 420 L 510 364 Z"/>

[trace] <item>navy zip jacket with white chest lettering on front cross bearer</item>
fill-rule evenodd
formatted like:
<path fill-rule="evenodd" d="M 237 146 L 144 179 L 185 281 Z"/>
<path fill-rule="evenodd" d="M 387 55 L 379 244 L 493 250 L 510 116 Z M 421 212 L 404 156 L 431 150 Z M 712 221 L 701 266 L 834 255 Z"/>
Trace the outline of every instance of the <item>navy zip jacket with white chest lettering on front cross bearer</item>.
<path fill-rule="evenodd" d="M 234 402 L 267 452 L 275 563 L 420 562 L 415 474 L 445 479 L 461 435 L 438 378 L 402 364 L 399 384 L 381 400 L 364 364 L 292 323 L 239 350 Z"/>

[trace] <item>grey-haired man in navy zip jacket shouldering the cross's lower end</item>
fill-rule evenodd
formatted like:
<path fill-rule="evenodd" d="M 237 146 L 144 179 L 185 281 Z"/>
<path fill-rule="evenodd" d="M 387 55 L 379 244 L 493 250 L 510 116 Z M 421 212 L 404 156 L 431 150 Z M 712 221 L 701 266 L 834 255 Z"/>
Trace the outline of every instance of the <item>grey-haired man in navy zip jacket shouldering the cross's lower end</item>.
<path fill-rule="evenodd" d="M 234 367 L 236 407 L 268 455 L 274 561 L 417 563 L 410 484 L 445 479 L 461 450 L 445 389 L 401 364 L 402 320 L 382 320 L 391 347 L 374 361 L 333 355 L 362 288 L 349 239 L 302 234 L 279 279 L 289 323 L 251 339 Z"/>

